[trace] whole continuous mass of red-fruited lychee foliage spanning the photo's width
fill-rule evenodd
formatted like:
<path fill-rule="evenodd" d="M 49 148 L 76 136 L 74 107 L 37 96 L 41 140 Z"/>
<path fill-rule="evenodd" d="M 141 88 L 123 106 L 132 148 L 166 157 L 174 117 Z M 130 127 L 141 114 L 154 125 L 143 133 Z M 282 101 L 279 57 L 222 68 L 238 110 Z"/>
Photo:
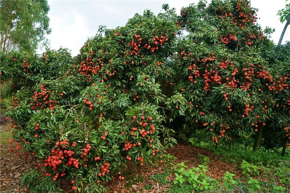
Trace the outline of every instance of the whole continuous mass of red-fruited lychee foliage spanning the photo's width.
<path fill-rule="evenodd" d="M 18 90 L 11 142 L 47 178 L 101 191 L 111 175 L 124 179 L 128 162 L 162 163 L 183 127 L 217 144 L 257 132 L 254 150 L 272 130 L 289 147 L 289 44 L 275 48 L 248 1 L 200 2 L 180 16 L 163 9 L 101 27 L 74 59 L 64 49 L 2 54 L 1 79 Z"/>

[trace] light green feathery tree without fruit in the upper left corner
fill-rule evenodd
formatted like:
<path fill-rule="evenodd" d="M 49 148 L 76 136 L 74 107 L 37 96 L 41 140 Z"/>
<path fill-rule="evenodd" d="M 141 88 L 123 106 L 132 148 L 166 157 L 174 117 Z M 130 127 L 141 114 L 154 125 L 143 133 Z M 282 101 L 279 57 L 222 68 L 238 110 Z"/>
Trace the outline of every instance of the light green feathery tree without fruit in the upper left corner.
<path fill-rule="evenodd" d="M 0 50 L 33 51 L 50 34 L 47 1 L 0 1 Z"/>

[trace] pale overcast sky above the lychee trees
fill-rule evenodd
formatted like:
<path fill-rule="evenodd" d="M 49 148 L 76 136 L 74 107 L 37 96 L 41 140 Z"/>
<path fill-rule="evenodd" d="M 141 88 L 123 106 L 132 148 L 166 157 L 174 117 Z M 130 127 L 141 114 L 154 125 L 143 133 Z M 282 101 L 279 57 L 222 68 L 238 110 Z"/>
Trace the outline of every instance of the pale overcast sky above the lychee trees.
<path fill-rule="evenodd" d="M 47 35 L 50 47 L 58 49 L 67 47 L 72 56 L 79 53 L 80 47 L 88 37 L 92 37 L 98 31 L 99 25 L 107 28 L 124 26 L 135 13 L 142 14 L 145 9 L 150 9 L 158 14 L 162 4 L 168 3 L 170 8 L 176 8 L 177 14 L 183 6 L 197 3 L 198 0 L 161 0 L 161 1 L 52 1 L 49 0 L 51 34 Z M 209 3 L 210 1 L 208 1 Z M 277 44 L 283 24 L 279 21 L 277 11 L 285 7 L 285 0 L 252 0 L 251 5 L 258 8 L 258 24 L 264 29 L 266 26 L 275 28 L 272 34 L 274 43 Z M 164 11 L 164 10 L 162 10 Z M 290 41 L 289 26 L 283 38 L 283 42 Z M 282 42 L 282 43 L 283 43 Z"/>

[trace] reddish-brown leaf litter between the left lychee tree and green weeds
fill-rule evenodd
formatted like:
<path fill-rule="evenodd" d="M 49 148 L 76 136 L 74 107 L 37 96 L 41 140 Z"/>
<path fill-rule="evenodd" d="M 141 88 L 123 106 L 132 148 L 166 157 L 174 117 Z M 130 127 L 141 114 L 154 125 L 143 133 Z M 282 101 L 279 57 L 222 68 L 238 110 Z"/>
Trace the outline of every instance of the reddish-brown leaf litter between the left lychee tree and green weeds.
<path fill-rule="evenodd" d="M 235 174 L 235 178 L 241 176 L 241 171 L 234 165 L 229 163 L 224 163 L 218 156 L 213 155 L 213 152 L 200 147 L 188 147 L 184 144 L 178 144 L 173 149 L 168 149 L 167 152 L 178 158 L 175 162 L 184 162 L 185 165 L 190 167 L 197 167 L 201 165 L 200 155 L 207 156 L 210 160 L 208 165 L 207 176 L 215 179 L 221 179 L 224 177 L 226 171 Z M 113 179 L 110 184 L 108 184 L 108 189 L 110 193 L 125 193 L 125 192 L 137 192 L 139 193 L 157 193 L 165 192 L 169 189 L 170 185 L 173 185 L 174 178 L 176 177 L 173 171 L 174 168 L 172 164 L 163 162 L 163 164 L 157 164 L 157 166 L 150 167 L 147 165 L 140 168 L 132 168 L 129 166 L 126 171 L 126 178 L 124 181 L 119 181 L 118 179 Z M 160 176 L 161 174 L 161 176 Z M 163 175 L 165 174 L 165 175 Z M 168 175 L 168 176 L 166 176 Z M 156 182 L 156 176 L 164 178 L 163 182 Z M 166 177 L 165 177 L 166 176 Z M 166 183 L 168 182 L 168 183 Z"/>

